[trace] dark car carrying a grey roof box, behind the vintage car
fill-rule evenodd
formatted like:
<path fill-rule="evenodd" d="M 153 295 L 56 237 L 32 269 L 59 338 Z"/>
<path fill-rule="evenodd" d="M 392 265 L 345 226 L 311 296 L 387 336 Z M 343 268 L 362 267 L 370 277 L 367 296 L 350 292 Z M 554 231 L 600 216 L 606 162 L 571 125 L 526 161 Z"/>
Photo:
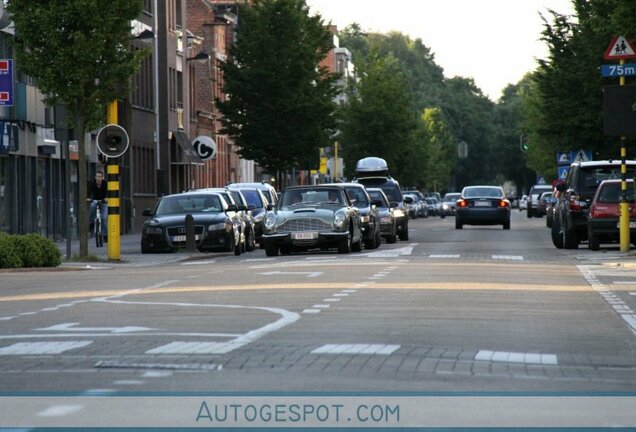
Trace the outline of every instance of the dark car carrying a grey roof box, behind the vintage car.
<path fill-rule="evenodd" d="M 356 165 L 357 183 L 369 188 L 380 188 L 389 199 L 389 202 L 397 203 L 393 209 L 393 215 L 397 224 L 397 233 L 400 240 L 409 239 L 409 204 L 410 197 L 402 195 L 400 184 L 389 175 L 389 168 L 384 159 L 367 157 L 360 159 Z"/>

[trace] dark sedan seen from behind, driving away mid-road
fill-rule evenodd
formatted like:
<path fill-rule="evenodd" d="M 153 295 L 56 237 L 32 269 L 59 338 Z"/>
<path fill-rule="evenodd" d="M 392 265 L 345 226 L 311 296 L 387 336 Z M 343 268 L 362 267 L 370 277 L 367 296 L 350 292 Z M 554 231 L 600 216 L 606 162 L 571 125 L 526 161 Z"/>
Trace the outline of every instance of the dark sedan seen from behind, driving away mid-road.
<path fill-rule="evenodd" d="M 503 225 L 510 229 L 510 201 L 499 186 L 466 186 L 457 201 L 455 228 L 464 225 Z"/>

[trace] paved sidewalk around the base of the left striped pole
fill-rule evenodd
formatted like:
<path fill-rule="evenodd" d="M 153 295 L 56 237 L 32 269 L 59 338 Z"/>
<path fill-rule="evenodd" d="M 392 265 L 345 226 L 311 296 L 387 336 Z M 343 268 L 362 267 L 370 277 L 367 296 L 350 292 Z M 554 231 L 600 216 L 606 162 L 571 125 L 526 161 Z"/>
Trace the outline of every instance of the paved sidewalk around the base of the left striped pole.
<path fill-rule="evenodd" d="M 73 239 L 71 242 L 70 259 L 66 256 L 66 240 L 60 240 L 56 242 L 56 244 L 62 254 L 62 267 L 101 267 L 104 264 L 108 264 L 109 266 L 146 267 L 188 261 L 193 258 L 201 259 L 208 256 L 207 254 L 200 252 L 185 251 L 175 253 L 142 254 L 140 233 L 124 234 L 120 236 L 120 259 L 118 261 L 108 259 L 108 243 L 104 243 L 104 247 L 98 248 L 95 246 L 95 239 L 92 237 L 89 237 L 88 239 L 88 254 L 97 257 L 99 261 L 86 262 L 73 260 L 73 258 L 77 258 L 77 256 L 79 256 L 79 239 Z"/>

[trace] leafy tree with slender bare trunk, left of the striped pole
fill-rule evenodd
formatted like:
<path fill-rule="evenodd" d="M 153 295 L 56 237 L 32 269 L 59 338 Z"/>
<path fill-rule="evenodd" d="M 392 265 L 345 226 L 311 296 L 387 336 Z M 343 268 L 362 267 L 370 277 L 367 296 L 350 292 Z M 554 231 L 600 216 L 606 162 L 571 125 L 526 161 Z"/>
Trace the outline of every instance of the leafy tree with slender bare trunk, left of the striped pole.
<path fill-rule="evenodd" d="M 88 254 L 87 130 L 103 124 L 105 108 L 129 93 L 141 56 L 130 49 L 130 21 L 141 0 L 9 0 L 17 68 L 33 77 L 51 106 L 64 105 L 79 141 L 80 256 Z"/>

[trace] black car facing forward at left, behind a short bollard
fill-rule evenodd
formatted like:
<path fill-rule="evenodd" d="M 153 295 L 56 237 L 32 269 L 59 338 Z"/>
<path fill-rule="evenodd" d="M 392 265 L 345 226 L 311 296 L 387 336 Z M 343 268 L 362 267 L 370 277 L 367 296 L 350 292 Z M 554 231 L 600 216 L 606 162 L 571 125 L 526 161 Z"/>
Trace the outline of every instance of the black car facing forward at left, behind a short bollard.
<path fill-rule="evenodd" d="M 199 251 L 233 251 L 241 254 L 241 222 L 238 211 L 214 192 L 185 192 L 162 197 L 141 232 L 141 253 L 172 252 L 186 247 L 186 215 L 192 215 L 195 244 Z"/>

